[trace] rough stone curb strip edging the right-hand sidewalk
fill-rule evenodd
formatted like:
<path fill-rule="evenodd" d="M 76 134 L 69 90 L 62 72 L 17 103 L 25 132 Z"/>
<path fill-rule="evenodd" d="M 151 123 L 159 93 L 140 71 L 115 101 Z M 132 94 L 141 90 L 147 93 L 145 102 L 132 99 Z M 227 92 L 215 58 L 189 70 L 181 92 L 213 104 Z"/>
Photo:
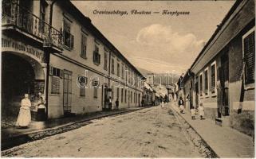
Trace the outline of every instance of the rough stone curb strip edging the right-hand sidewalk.
<path fill-rule="evenodd" d="M 178 120 L 179 120 L 179 118 L 181 118 L 183 120 L 183 121 L 179 120 L 179 122 L 183 122 L 181 124 L 183 124 L 183 126 L 187 127 L 186 133 L 189 136 L 189 138 L 191 139 L 191 142 L 193 142 L 193 144 L 195 145 L 195 147 L 197 147 L 199 149 L 199 152 L 203 153 L 204 157 L 219 158 L 219 155 L 217 153 L 215 153 L 215 150 L 212 149 L 211 146 L 207 144 L 207 142 L 195 130 L 195 128 L 193 126 L 191 126 L 189 124 L 189 122 L 187 122 L 187 120 L 185 118 L 183 118 L 183 116 L 180 115 L 179 112 L 177 112 L 175 110 L 175 108 L 173 108 L 172 106 L 171 106 L 171 110 L 175 112 L 174 114 Z M 189 130 L 189 129 L 191 129 L 191 130 Z"/>

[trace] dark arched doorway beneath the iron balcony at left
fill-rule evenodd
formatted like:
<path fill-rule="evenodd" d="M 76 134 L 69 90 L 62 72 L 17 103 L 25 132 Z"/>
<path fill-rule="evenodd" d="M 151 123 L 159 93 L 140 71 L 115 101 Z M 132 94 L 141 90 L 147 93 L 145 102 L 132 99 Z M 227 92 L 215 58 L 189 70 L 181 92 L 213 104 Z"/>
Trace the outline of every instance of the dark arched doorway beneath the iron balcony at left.
<path fill-rule="evenodd" d="M 39 92 L 44 93 L 44 78 L 37 60 L 18 52 L 2 52 L 2 122 L 14 125 L 25 94 L 29 94 L 31 110 L 37 111 L 33 103 Z"/>

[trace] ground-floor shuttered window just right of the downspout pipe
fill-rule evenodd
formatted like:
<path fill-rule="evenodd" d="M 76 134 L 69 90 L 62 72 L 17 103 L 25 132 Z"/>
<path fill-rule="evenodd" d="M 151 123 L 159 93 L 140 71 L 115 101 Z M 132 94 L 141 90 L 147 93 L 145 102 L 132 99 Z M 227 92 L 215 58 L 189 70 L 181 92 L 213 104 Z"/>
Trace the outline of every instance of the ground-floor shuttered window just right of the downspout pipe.
<path fill-rule="evenodd" d="M 49 75 L 52 76 L 51 78 L 51 94 L 58 95 L 60 94 L 60 82 L 62 76 L 63 76 L 63 71 L 59 68 L 49 68 Z"/>

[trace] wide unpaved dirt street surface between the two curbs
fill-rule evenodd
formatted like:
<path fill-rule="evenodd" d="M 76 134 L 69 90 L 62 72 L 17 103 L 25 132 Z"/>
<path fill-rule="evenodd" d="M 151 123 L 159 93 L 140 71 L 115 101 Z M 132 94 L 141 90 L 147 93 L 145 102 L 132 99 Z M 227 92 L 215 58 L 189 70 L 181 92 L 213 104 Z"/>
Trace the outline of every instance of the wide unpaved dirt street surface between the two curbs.
<path fill-rule="evenodd" d="M 91 122 L 7 149 L 2 157 L 202 157 L 169 107 L 151 107 Z"/>

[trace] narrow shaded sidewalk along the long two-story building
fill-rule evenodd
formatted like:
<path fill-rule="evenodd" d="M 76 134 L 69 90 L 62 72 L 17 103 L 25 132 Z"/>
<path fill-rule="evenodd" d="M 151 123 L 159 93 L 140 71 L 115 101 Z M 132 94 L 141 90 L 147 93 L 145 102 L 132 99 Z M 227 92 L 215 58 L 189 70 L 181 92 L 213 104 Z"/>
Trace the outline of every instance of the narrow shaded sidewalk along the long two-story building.
<path fill-rule="evenodd" d="M 76 123 L 87 122 L 96 118 L 103 118 L 115 114 L 124 114 L 129 111 L 137 111 L 143 109 L 144 107 L 132 107 L 124 108 L 119 111 L 98 111 L 90 114 L 79 114 L 73 117 L 67 118 L 56 118 L 49 119 L 45 122 L 32 121 L 29 128 L 27 129 L 17 129 L 16 127 L 10 127 L 1 130 L 1 149 L 9 149 L 15 145 L 20 145 L 22 143 L 30 142 L 36 140 L 37 134 L 42 138 L 42 134 L 45 136 L 50 136 L 53 134 L 60 134 L 61 130 L 65 132 L 64 127 L 73 126 Z M 57 130 L 58 129 L 58 130 Z M 70 129 L 70 128 L 69 128 Z M 49 133 L 50 130 L 57 130 L 57 133 Z"/>

